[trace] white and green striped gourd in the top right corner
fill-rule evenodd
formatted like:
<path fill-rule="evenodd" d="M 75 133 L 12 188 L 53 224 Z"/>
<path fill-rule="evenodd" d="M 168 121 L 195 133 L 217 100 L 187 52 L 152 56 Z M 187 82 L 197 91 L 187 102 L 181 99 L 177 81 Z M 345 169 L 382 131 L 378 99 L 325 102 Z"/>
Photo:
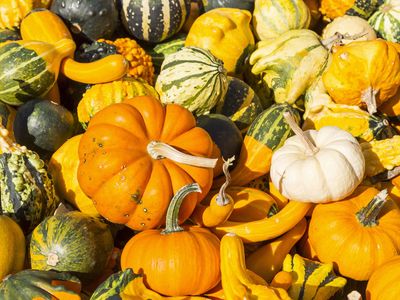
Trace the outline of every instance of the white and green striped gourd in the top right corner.
<path fill-rule="evenodd" d="M 368 20 L 385 40 L 400 42 L 400 1 L 386 0 Z"/>

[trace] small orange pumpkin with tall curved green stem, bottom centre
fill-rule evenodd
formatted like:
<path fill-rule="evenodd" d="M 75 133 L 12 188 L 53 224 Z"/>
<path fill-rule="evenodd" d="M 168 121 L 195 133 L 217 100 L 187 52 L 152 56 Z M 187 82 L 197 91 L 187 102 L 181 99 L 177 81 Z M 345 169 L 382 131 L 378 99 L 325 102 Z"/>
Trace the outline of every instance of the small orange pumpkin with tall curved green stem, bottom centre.
<path fill-rule="evenodd" d="M 200 295 L 220 281 L 218 238 L 201 227 L 178 225 L 180 206 L 192 192 L 201 192 L 197 183 L 176 192 L 165 229 L 138 233 L 122 251 L 122 270 L 143 270 L 145 284 L 164 295 Z"/>

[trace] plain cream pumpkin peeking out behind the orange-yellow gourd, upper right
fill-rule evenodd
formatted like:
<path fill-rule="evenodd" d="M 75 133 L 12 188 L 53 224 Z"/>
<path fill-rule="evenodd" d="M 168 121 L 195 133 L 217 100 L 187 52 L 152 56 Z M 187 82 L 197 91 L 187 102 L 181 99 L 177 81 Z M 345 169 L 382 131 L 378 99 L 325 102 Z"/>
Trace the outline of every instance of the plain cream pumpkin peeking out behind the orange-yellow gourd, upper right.
<path fill-rule="evenodd" d="M 366 20 L 357 16 L 344 15 L 330 22 L 322 31 L 322 38 L 328 39 L 337 33 L 343 34 L 342 44 L 348 44 L 353 41 L 371 41 L 376 39 L 375 30 Z M 355 36 L 356 38 L 346 39 L 346 37 Z"/>

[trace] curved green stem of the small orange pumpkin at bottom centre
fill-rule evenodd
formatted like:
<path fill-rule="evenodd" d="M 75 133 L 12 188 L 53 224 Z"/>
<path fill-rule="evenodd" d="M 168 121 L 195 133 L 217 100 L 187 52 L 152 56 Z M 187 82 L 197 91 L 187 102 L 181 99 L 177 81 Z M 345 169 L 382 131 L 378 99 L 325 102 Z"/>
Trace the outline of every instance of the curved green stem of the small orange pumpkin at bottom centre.
<path fill-rule="evenodd" d="M 201 193 L 201 189 L 198 183 L 191 183 L 181 187 L 171 202 L 169 203 L 167 216 L 165 221 L 165 229 L 161 231 L 161 234 L 170 234 L 174 232 L 183 231 L 183 228 L 179 226 L 179 209 L 181 208 L 183 199 L 190 193 L 197 192 Z"/>

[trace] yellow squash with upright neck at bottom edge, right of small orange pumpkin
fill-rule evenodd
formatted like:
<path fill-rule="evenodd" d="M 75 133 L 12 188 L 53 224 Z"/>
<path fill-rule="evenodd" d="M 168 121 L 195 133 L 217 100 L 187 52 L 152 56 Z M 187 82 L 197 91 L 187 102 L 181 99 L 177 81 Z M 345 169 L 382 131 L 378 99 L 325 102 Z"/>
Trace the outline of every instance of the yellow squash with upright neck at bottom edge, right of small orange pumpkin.
<path fill-rule="evenodd" d="M 233 233 L 221 239 L 221 282 L 225 299 L 291 299 L 286 290 L 258 284 L 246 271 L 242 240 Z"/>

